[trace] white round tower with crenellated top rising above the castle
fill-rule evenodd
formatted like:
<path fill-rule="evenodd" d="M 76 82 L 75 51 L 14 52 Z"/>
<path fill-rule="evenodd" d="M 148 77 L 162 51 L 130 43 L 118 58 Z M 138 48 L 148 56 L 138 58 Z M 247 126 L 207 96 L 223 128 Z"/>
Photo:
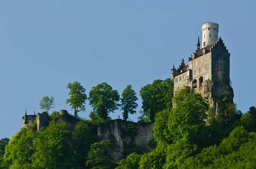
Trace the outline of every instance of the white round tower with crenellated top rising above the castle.
<path fill-rule="evenodd" d="M 207 22 L 202 25 L 202 48 L 218 40 L 218 23 Z"/>

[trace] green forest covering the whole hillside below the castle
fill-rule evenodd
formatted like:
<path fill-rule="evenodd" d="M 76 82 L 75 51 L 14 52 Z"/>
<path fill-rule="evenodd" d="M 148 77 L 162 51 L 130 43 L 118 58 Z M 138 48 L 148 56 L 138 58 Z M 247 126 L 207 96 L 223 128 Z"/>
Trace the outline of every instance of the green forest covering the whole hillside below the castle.
<path fill-rule="evenodd" d="M 256 168 L 256 107 L 237 109 L 227 98 L 217 98 L 220 113 L 207 98 L 192 89 L 173 93 L 173 80 L 154 80 L 143 86 L 138 123 L 152 123 L 154 149 L 141 154 L 136 147 L 118 163 L 111 160 L 110 140 L 100 140 L 97 126 L 111 121 L 110 113 L 122 110 L 123 120 L 136 113 L 137 93 L 128 85 L 121 97 L 107 83 L 93 86 L 89 97 L 79 82 L 69 83 L 67 104 L 78 119 L 76 127 L 56 121 L 36 131 L 36 120 L 12 136 L 0 140 L 0 169 L 254 169 Z M 90 119 L 79 117 L 85 100 L 93 107 Z M 173 102 L 175 107 L 173 107 Z M 48 113 L 54 98 L 39 105 Z"/>

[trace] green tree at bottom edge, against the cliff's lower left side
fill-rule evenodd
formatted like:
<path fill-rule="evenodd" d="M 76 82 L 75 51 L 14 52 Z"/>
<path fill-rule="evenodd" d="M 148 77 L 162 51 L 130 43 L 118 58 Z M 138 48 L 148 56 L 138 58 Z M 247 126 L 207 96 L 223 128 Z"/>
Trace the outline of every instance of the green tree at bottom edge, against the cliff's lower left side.
<path fill-rule="evenodd" d="M 113 164 L 111 163 L 109 148 L 109 140 L 91 144 L 86 165 L 90 166 L 91 169 L 110 169 Z"/>

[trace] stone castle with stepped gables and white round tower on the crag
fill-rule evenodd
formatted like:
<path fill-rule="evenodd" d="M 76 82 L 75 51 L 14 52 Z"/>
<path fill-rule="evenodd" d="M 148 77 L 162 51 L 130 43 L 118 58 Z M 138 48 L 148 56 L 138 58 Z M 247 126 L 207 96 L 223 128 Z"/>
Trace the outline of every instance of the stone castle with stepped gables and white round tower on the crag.
<path fill-rule="evenodd" d="M 203 97 L 208 97 L 210 106 L 218 113 L 216 100 L 227 97 L 233 102 L 233 89 L 230 86 L 230 53 L 218 37 L 218 23 L 207 22 L 202 25 L 202 42 L 198 34 L 197 49 L 188 58 L 186 65 L 182 58 L 177 69 L 173 65 L 172 78 L 174 92 L 182 88 L 195 89 Z"/>

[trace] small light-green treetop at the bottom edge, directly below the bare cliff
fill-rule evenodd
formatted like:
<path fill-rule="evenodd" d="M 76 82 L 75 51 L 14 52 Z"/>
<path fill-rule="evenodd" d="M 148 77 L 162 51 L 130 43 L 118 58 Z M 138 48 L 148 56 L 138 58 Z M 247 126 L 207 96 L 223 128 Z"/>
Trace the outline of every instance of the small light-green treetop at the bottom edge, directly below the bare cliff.
<path fill-rule="evenodd" d="M 116 169 L 138 169 L 140 166 L 141 155 L 136 152 L 131 153 L 125 159 L 118 162 L 118 167 Z"/>

